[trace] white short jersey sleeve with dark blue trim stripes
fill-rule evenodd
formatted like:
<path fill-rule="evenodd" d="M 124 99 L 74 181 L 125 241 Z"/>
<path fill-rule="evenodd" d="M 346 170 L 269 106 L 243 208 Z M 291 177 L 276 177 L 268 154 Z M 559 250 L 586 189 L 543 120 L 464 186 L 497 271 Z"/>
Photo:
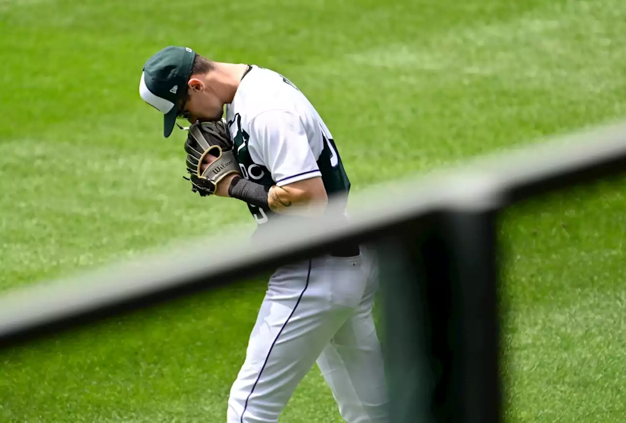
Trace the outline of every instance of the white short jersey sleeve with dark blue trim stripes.
<path fill-rule="evenodd" d="M 266 111 L 250 121 L 250 156 L 267 167 L 277 186 L 322 176 L 297 114 Z"/>

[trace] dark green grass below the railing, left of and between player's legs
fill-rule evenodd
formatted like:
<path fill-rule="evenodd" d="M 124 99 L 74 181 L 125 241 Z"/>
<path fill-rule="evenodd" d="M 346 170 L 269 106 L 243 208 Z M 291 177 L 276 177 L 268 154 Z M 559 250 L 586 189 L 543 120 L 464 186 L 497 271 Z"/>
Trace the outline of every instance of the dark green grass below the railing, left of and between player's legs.
<path fill-rule="evenodd" d="M 264 291 L 264 283 L 239 284 L 3 354 L 0 416 L 224 421 L 249 336 L 241 328 L 252 326 Z M 18 395 L 17 387 L 29 395 Z M 319 372 L 305 378 L 299 392 L 292 403 L 303 408 L 290 404 L 289 421 L 341 421 Z"/>

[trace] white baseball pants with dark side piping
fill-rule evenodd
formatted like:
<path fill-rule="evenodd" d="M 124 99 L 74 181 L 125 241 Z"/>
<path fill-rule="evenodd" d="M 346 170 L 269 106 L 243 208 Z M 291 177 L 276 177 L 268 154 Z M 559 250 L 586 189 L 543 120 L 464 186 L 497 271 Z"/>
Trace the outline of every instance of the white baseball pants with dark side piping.
<path fill-rule="evenodd" d="M 278 422 L 315 362 L 346 422 L 389 422 L 372 319 L 376 270 L 363 249 L 357 257 L 323 256 L 277 269 L 230 391 L 228 423 Z"/>

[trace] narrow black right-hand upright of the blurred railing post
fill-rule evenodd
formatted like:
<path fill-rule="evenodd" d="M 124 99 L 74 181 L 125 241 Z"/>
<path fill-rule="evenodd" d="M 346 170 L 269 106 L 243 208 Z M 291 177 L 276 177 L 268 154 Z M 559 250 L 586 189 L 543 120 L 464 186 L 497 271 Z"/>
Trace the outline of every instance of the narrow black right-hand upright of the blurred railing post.
<path fill-rule="evenodd" d="M 443 218 L 451 282 L 450 395 L 455 422 L 501 422 L 497 212 Z"/>

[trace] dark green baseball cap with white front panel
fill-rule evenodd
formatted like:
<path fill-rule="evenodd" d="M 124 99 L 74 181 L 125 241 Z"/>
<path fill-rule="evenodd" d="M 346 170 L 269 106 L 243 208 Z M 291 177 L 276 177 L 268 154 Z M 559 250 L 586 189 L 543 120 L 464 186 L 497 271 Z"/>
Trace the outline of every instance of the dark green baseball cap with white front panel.
<path fill-rule="evenodd" d="M 187 90 L 195 52 L 189 47 L 169 46 L 150 57 L 141 73 L 139 94 L 165 115 L 163 136 L 169 137 L 176 123 L 178 100 Z"/>

